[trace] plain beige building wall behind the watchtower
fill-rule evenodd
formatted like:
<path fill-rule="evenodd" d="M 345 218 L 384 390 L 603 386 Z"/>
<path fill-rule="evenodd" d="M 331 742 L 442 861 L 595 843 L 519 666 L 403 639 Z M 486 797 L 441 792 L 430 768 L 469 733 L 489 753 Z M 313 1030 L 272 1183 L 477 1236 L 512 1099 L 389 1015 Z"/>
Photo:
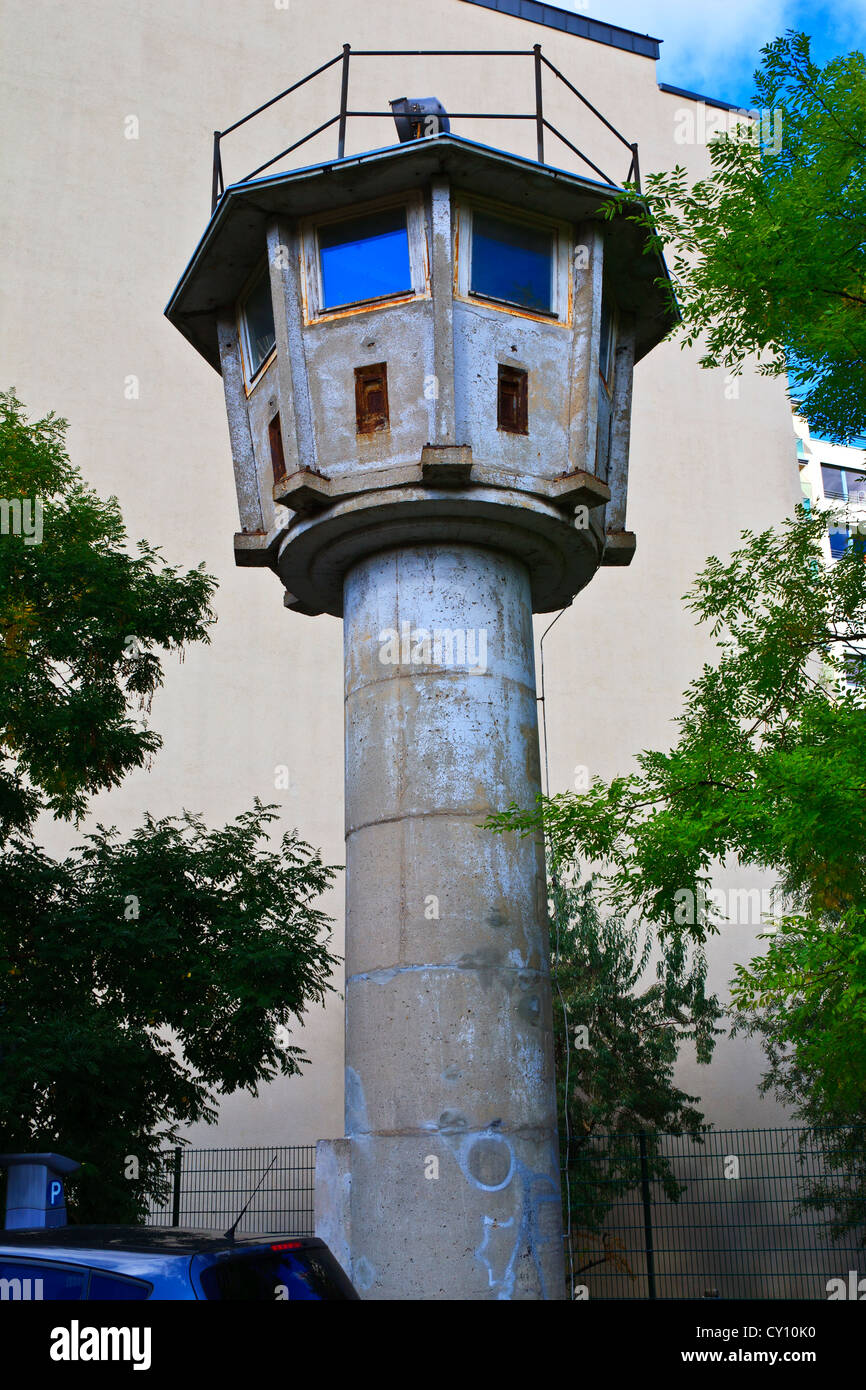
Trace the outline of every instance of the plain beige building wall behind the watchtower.
<path fill-rule="evenodd" d="M 603 0 L 598 6 L 603 19 Z M 4 385 L 32 413 L 71 421 L 74 461 L 121 500 L 132 539 L 175 564 L 218 575 L 209 648 L 168 662 L 152 724 L 164 748 L 150 773 L 97 796 L 93 819 L 135 826 L 182 806 L 224 823 L 254 796 L 282 805 L 325 858 L 343 855 L 342 644 L 335 619 L 282 607 L 275 577 L 236 570 L 236 499 L 220 378 L 163 318 L 210 211 L 214 128 L 354 47 L 530 49 L 545 54 L 630 140 L 644 172 L 680 161 L 705 171 L 695 103 L 663 93 L 651 58 L 493 13 L 464 0 L 6 0 L 3 18 Z M 664 38 L 660 35 L 660 38 Z M 363 65 L 361 65 L 363 64 Z M 623 179 L 628 153 L 552 76 L 549 118 Z M 350 103 L 435 93 L 453 110 L 532 110 L 530 58 L 359 60 Z M 720 93 L 723 96 L 724 93 Z M 335 114 L 338 70 L 225 142 L 227 181 Z M 696 114 L 689 140 L 689 113 Z M 457 133 L 534 156 L 530 122 L 456 121 Z M 581 170 L 548 138 L 548 160 Z M 391 122 L 350 125 L 348 150 L 393 143 Z M 332 129 L 292 164 L 334 157 Z M 274 170 L 284 165 L 277 164 Z M 766 527 L 799 496 L 791 411 L 780 382 L 706 373 L 663 345 L 635 373 L 627 570 L 601 570 L 545 644 L 552 790 L 574 769 L 610 776 L 674 734 L 680 695 L 710 655 L 681 595 L 710 553 L 744 527 Z M 545 620 L 538 624 L 544 631 Z M 275 790 L 289 769 L 288 791 Z M 68 844 L 68 827 L 44 827 Z M 751 885 L 745 872 L 735 880 Z M 342 951 L 342 884 L 328 909 Z M 758 926 L 733 926 L 710 948 L 712 980 L 752 954 Z M 335 981 L 339 990 L 339 980 Z M 314 1009 L 299 1040 L 304 1076 L 259 1099 L 225 1101 L 206 1145 L 310 1143 L 343 1133 L 342 1002 Z M 683 1084 L 719 1125 L 777 1122 L 758 1098 L 760 1052 L 723 1042 L 710 1069 L 688 1061 Z"/>

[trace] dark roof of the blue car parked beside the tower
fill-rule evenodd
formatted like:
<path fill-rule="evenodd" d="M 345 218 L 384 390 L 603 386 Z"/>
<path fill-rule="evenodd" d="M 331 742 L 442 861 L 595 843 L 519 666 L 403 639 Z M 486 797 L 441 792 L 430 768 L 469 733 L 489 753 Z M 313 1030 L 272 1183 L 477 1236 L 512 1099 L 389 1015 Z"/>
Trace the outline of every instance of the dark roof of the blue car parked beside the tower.
<path fill-rule="evenodd" d="M 147 1255 L 213 1255 L 221 1251 L 242 1254 L 259 1245 L 300 1241 L 304 1248 L 321 1245 L 314 1236 L 292 1232 L 245 1232 L 228 1238 L 220 1230 L 178 1226 L 39 1226 L 29 1230 L 0 1230 L 3 1250 L 92 1250 L 135 1251 Z"/>

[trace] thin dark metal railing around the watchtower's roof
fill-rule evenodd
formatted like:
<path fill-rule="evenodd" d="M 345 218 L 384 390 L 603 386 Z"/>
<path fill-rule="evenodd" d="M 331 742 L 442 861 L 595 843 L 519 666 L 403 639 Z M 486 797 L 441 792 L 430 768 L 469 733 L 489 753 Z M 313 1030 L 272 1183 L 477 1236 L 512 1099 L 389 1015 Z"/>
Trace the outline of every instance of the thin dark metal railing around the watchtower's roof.
<path fill-rule="evenodd" d="M 247 115 L 242 115 L 239 121 L 235 121 L 232 125 L 228 125 L 224 131 L 214 131 L 211 214 L 215 211 L 215 207 L 222 193 L 225 192 L 225 183 L 222 175 L 222 140 L 228 135 L 232 135 L 234 131 L 240 129 L 242 125 L 246 125 L 247 121 L 252 121 L 254 117 L 261 115 L 263 111 L 267 111 L 278 101 L 282 101 L 284 97 L 291 96 L 293 92 L 297 92 L 300 88 L 306 86 L 307 82 L 311 82 L 314 78 L 320 76 L 322 72 L 327 72 L 329 68 L 334 68 L 339 63 L 341 64 L 339 111 L 335 115 L 331 115 L 327 121 L 322 121 L 321 125 L 317 125 L 314 131 L 309 131 L 307 135 L 303 135 L 292 145 L 288 145 L 284 150 L 279 150 L 279 153 L 274 154 L 270 160 L 265 160 L 264 164 L 260 164 L 250 174 L 246 174 L 245 178 L 235 179 L 235 183 L 249 183 L 252 179 L 259 178 L 259 175 L 264 174 L 265 170 L 271 168 L 279 160 L 286 158 L 286 156 L 292 154 L 295 150 L 299 150 L 303 145 L 307 145 L 309 140 L 314 139 L 317 135 L 321 135 L 324 131 L 331 129 L 331 126 L 334 125 L 338 126 L 336 158 L 342 160 L 345 158 L 346 154 L 346 129 L 350 120 L 382 120 L 382 118 L 391 120 L 393 114 L 392 111 L 356 111 L 349 107 L 349 67 L 352 58 L 357 60 L 357 58 L 446 58 L 446 57 L 448 58 L 531 58 L 534 64 L 534 76 L 535 76 L 534 111 L 449 111 L 448 113 L 449 120 L 532 121 L 535 124 L 537 156 L 539 164 L 545 164 L 545 131 L 548 131 L 550 135 L 555 135 L 559 140 L 562 140 L 562 143 L 566 145 L 571 150 L 571 153 L 575 154 L 584 164 L 587 164 L 595 174 L 598 174 L 605 183 L 607 183 L 610 188 L 617 188 L 619 185 L 612 178 L 609 178 L 609 175 L 605 174 L 605 171 L 599 168 L 599 165 L 595 164 L 588 154 L 585 154 L 581 149 L 578 149 L 577 145 L 574 145 L 566 135 L 562 133 L 562 131 L 559 131 L 546 118 L 544 108 L 544 71 L 548 70 L 549 72 L 553 74 L 553 76 L 559 82 L 564 83 L 567 90 L 571 92 L 571 95 L 575 96 L 577 100 L 581 101 L 587 107 L 587 110 L 591 111 L 592 115 L 596 117 L 596 120 L 601 121 L 601 124 L 606 126 L 607 131 L 610 131 L 610 133 L 621 145 L 626 146 L 626 149 L 630 152 L 631 163 L 628 165 L 628 172 L 626 175 L 624 182 L 626 183 L 634 182 L 639 192 L 641 165 L 638 158 L 637 140 L 627 140 L 626 136 L 621 135 L 621 132 L 617 131 L 616 126 L 612 125 L 610 121 L 602 115 L 602 113 L 592 104 L 592 101 L 589 101 L 589 99 L 585 97 L 584 93 L 580 92 L 574 86 L 574 83 L 570 82 L 569 78 L 566 78 L 564 74 L 562 74 L 559 68 L 555 67 L 550 63 L 550 60 L 544 56 L 544 53 L 541 51 L 541 43 L 534 44 L 532 49 L 353 49 L 352 44 L 343 43 L 342 53 L 338 53 L 336 57 L 329 58 L 327 63 L 322 63 L 313 72 L 307 72 L 304 78 L 300 78 L 297 82 L 293 82 L 282 92 L 278 92 L 277 96 L 272 96 L 268 101 L 263 101 L 261 106 L 257 106 L 254 111 L 250 111 Z M 425 138 L 435 139 L 436 136 L 432 135 Z"/>

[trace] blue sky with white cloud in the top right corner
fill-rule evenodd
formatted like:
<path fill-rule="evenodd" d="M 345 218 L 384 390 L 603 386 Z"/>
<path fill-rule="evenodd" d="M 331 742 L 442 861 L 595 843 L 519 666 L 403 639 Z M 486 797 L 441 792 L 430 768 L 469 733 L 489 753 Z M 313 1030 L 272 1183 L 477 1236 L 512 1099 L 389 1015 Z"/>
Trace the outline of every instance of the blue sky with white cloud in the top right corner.
<path fill-rule="evenodd" d="M 659 82 L 752 106 L 760 49 L 803 29 L 816 61 L 866 51 L 866 0 L 555 0 L 592 19 L 663 39 Z"/>

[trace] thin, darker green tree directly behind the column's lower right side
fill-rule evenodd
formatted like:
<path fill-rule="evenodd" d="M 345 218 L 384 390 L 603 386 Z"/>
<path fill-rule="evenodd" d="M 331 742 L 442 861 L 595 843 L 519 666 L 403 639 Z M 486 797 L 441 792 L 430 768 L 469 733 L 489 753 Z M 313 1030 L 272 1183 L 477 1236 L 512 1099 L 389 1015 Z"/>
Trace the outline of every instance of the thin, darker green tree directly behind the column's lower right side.
<path fill-rule="evenodd" d="M 683 1194 L 660 1133 L 701 1143 L 698 1097 L 674 1084 L 683 1042 L 699 1062 L 712 1055 L 721 1011 L 705 992 L 706 962 L 674 944 L 652 967 L 653 935 L 603 916 L 591 881 L 552 866 L 550 956 L 555 963 L 553 1045 L 560 1116 L 560 1168 L 573 1277 L 602 1264 L 632 1273 L 605 1230 L 616 1201 L 641 1183 L 638 1131 L 649 1177 L 670 1201 Z"/>

